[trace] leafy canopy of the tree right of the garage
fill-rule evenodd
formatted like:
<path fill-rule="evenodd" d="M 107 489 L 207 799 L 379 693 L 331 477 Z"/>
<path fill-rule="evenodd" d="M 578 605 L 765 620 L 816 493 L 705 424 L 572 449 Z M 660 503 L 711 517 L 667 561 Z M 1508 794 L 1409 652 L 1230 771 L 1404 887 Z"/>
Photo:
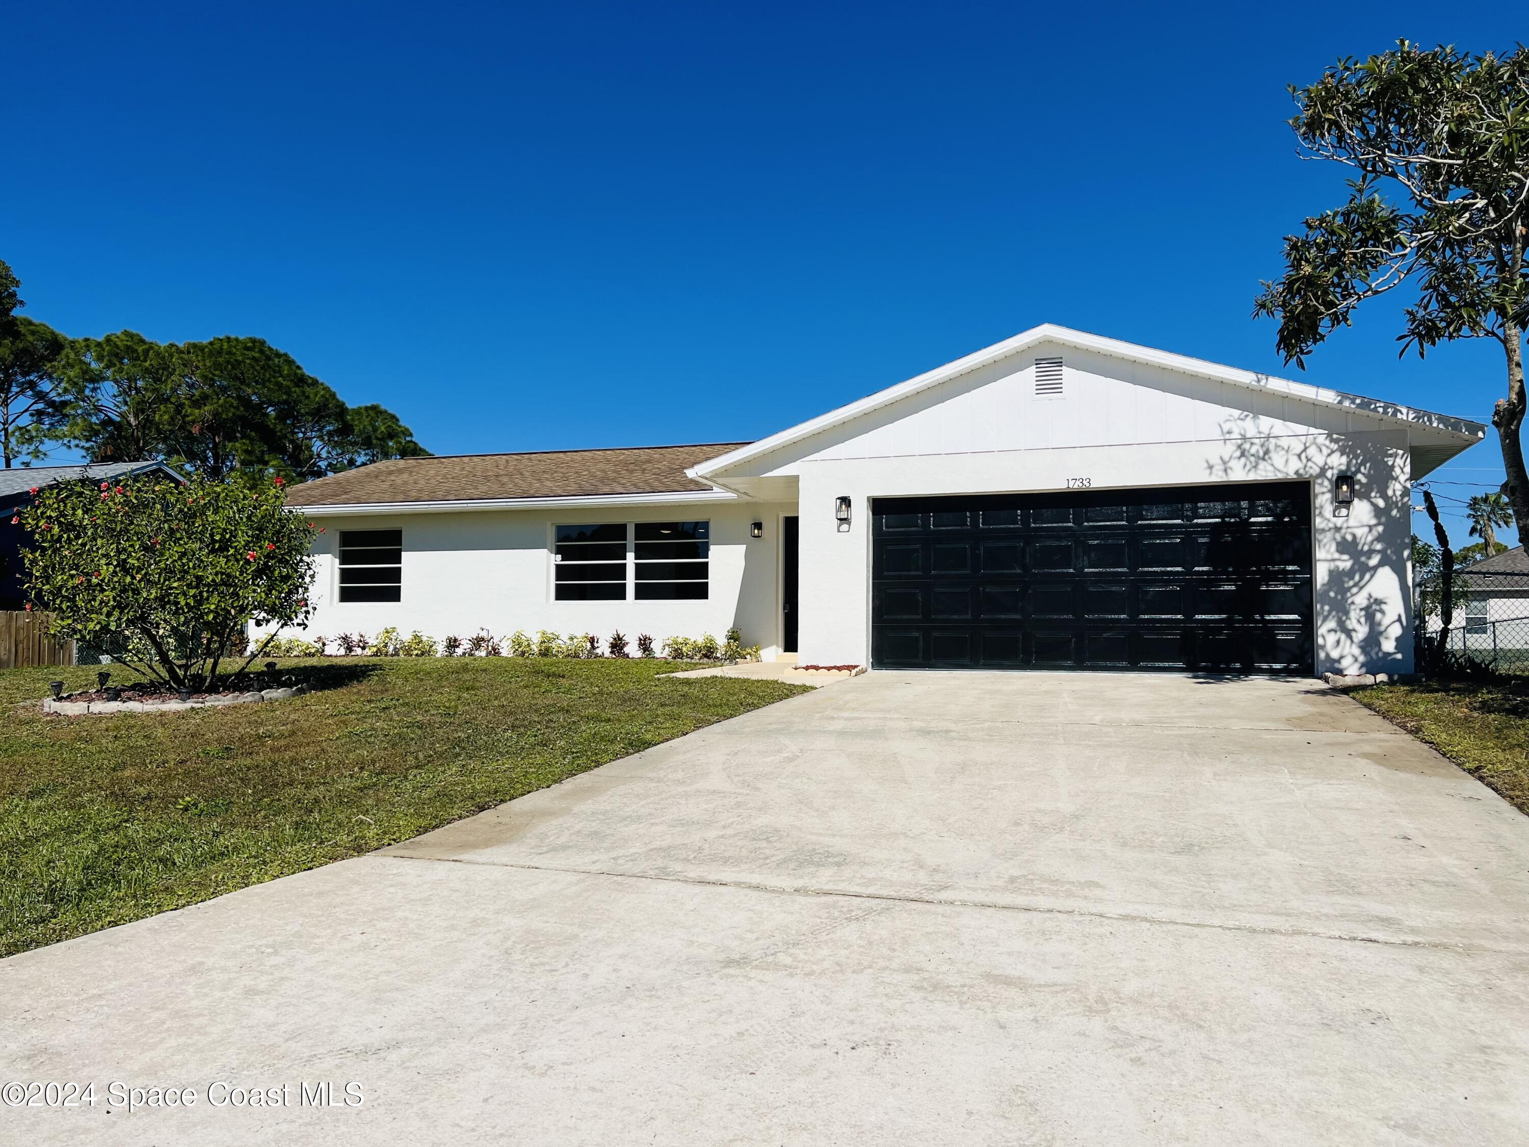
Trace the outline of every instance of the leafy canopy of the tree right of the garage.
<path fill-rule="evenodd" d="M 1284 275 L 1255 314 L 1278 318 L 1277 346 L 1303 359 L 1359 303 L 1404 283 L 1416 294 L 1398 340 L 1419 355 L 1442 341 L 1492 338 L 1508 393 L 1492 411 L 1520 537 L 1529 537 L 1529 474 L 1520 428 L 1529 321 L 1529 49 L 1466 55 L 1402 40 L 1339 60 L 1290 87 L 1301 151 L 1353 170 L 1349 197 L 1284 240 Z M 1388 197 L 1394 196 L 1394 197 Z"/>

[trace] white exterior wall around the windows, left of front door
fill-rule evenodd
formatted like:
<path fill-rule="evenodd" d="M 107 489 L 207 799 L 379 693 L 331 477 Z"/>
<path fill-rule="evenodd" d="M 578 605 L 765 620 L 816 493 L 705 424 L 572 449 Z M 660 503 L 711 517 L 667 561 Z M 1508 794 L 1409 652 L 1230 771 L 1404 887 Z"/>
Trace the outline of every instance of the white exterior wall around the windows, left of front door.
<path fill-rule="evenodd" d="M 315 544 L 315 613 L 303 632 L 312 639 L 365 633 L 393 625 L 405 636 L 419 630 L 437 641 L 463 639 L 488 629 L 508 638 L 515 630 L 561 635 L 593 633 L 604 642 L 621 630 L 633 647 L 639 633 L 656 642 L 668 636 L 719 641 L 737 627 L 748 645 L 774 656 L 778 636 L 780 512 L 794 508 L 757 502 L 625 505 L 619 508 L 457 511 L 413 514 L 324 514 Z M 552 596 L 552 526 L 605 522 L 711 523 L 709 596 L 705 601 L 555 601 Z M 752 522 L 764 537 L 749 537 Z M 402 601 L 341 603 L 338 541 L 342 529 L 402 529 Z"/>

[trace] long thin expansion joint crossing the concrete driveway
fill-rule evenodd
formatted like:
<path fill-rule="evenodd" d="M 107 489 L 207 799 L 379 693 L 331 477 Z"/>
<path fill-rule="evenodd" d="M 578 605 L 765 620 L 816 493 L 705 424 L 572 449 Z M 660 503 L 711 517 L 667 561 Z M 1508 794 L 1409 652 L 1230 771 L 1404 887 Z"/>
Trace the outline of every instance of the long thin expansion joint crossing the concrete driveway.
<path fill-rule="evenodd" d="M 662 884 L 690 884 L 709 889 L 737 889 L 739 892 L 761 892 L 774 896 L 826 896 L 841 899 L 882 901 L 887 904 L 922 904 L 940 908 L 986 908 L 992 911 L 1027 911 L 1043 916 L 1083 916 L 1087 919 L 1118 921 L 1122 924 L 1154 924 L 1168 928 L 1208 928 L 1214 931 L 1252 933 L 1260 936 L 1290 936 L 1297 939 L 1339 941 L 1347 944 L 1376 944 L 1387 948 L 1423 948 L 1471 956 L 1524 956 L 1521 948 L 1494 948 L 1480 944 L 1439 944 L 1436 941 L 1408 941 L 1393 936 L 1365 936 L 1361 933 L 1318 931 L 1316 928 L 1272 928 L 1258 924 L 1226 924 L 1217 921 L 1187 921 L 1173 916 L 1148 916 L 1128 911 L 1101 911 L 1096 908 L 1053 908 L 1038 904 L 1000 904 L 997 901 L 954 899 L 942 896 L 894 895 L 890 892 L 859 892 L 855 889 L 813 889 L 790 884 L 757 884 L 752 881 L 706 879 L 703 876 L 657 876 L 645 872 L 612 872 L 607 869 L 573 869 L 555 864 L 524 864 L 517 861 L 466 859 L 463 856 L 425 856 L 407 852 L 373 852 L 358 859 L 410 859 L 439 864 L 468 864 L 483 869 L 520 869 L 523 872 L 557 872 L 569 876 L 604 876 L 610 879 L 656 881 Z"/>

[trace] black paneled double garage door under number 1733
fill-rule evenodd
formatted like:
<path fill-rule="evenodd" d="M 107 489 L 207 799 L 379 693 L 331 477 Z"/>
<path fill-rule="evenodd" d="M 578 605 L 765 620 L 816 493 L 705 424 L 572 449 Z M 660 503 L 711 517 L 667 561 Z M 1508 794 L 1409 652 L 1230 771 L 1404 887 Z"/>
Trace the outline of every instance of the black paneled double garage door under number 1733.
<path fill-rule="evenodd" d="M 1310 486 L 872 503 L 881 668 L 1312 671 Z"/>

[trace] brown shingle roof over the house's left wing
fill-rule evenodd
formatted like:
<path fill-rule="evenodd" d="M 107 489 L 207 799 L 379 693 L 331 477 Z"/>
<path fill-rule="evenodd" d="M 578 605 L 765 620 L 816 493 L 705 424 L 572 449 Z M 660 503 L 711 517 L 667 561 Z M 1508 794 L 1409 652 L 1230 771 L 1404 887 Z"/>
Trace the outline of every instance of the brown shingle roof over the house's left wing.
<path fill-rule="evenodd" d="M 346 506 L 705 491 L 713 486 L 685 477 L 685 470 L 740 445 L 745 444 L 391 459 L 294 486 L 287 494 L 287 505 Z"/>

